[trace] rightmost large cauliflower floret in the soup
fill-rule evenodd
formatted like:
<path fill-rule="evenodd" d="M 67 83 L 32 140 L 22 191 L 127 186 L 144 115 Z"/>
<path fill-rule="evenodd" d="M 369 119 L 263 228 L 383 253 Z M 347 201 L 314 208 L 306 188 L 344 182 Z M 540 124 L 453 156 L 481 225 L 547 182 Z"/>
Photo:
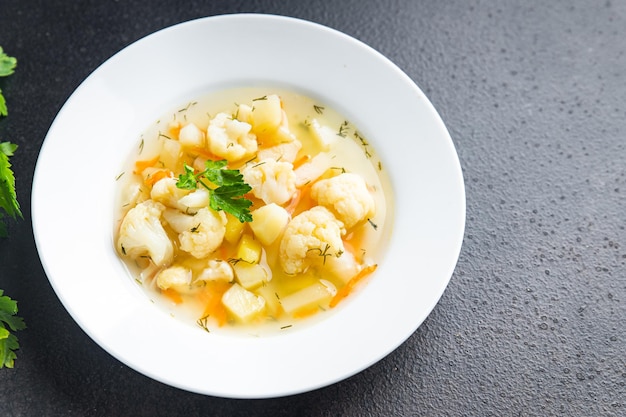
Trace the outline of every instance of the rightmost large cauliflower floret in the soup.
<path fill-rule="evenodd" d="M 320 180 L 311 187 L 311 197 L 330 209 L 347 229 L 374 215 L 374 198 L 365 180 L 357 174 L 344 173 Z"/>

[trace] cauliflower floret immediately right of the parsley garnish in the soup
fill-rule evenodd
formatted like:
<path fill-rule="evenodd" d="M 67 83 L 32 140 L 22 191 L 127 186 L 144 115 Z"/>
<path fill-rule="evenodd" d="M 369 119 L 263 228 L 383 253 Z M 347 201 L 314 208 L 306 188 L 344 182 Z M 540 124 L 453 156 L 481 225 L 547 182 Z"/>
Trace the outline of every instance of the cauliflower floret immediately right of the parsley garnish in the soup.
<path fill-rule="evenodd" d="M 244 181 L 252 187 L 254 196 L 265 204 L 284 204 L 296 192 L 296 174 L 289 162 L 263 159 L 241 173 Z"/>

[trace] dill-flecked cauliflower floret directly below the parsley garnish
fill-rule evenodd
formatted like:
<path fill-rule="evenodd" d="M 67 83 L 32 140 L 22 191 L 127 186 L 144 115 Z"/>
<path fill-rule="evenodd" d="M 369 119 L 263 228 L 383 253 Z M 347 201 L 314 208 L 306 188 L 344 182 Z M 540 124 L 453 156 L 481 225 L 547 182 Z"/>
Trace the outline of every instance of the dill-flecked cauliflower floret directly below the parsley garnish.
<path fill-rule="evenodd" d="M 226 233 L 226 215 L 223 211 L 201 208 L 191 216 L 168 209 L 163 217 L 178 233 L 180 249 L 195 258 L 204 258 L 220 247 Z"/>

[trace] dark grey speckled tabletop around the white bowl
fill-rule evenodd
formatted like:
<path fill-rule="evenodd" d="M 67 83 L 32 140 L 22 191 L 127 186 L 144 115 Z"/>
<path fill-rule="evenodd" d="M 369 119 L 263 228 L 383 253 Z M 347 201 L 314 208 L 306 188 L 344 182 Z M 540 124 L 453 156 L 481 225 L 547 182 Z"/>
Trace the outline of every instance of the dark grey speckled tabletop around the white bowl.
<path fill-rule="evenodd" d="M 464 246 L 424 324 L 371 368 L 280 399 L 187 393 L 109 356 L 57 299 L 30 223 L 37 154 L 79 83 L 153 31 L 232 12 L 385 54 L 440 112 L 466 180 Z M 0 45 L 19 60 L 0 138 L 20 145 L 25 214 L 0 241 L 0 288 L 29 326 L 0 370 L 1 416 L 626 415 L 626 2 L 0 0 Z"/>

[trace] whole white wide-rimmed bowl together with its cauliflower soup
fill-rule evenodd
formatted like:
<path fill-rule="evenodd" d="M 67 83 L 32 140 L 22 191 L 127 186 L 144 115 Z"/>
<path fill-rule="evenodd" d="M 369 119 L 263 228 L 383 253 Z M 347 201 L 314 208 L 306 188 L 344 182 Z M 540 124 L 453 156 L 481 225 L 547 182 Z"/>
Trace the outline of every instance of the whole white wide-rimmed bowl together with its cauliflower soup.
<path fill-rule="evenodd" d="M 54 186 L 72 172 L 89 175 Z M 46 274 L 99 345 L 181 389 L 265 398 L 347 378 L 419 327 L 465 197 L 445 126 L 393 63 L 240 14 L 159 31 L 90 75 L 46 137 L 32 210 Z"/>

